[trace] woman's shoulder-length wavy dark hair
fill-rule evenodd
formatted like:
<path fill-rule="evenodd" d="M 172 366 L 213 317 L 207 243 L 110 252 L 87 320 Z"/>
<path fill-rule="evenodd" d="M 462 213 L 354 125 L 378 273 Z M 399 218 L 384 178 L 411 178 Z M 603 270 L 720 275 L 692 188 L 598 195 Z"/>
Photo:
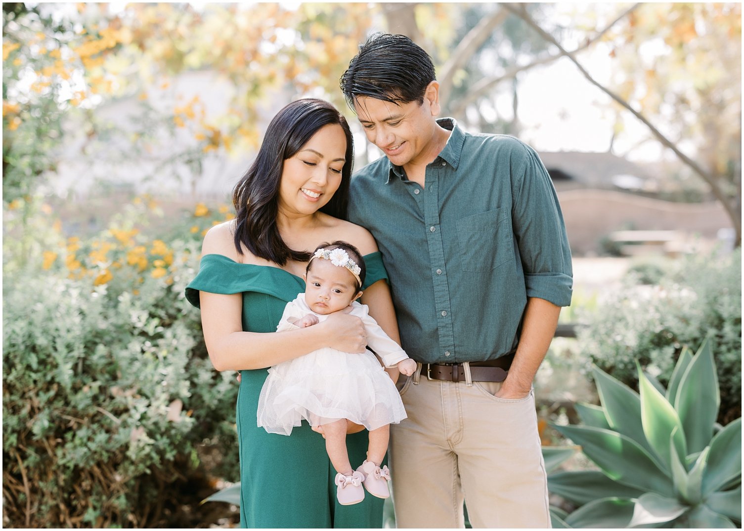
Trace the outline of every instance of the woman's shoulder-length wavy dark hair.
<path fill-rule="evenodd" d="M 306 251 L 290 249 L 277 227 L 278 195 L 284 161 L 307 144 L 323 126 L 338 124 L 346 136 L 346 162 L 341 184 L 321 212 L 346 219 L 349 181 L 353 167 L 354 145 L 349 124 L 336 107 L 324 100 L 306 98 L 293 101 L 272 118 L 253 164 L 233 190 L 235 207 L 235 248 L 242 245 L 257 257 L 283 266 L 287 260 L 305 262 Z"/>

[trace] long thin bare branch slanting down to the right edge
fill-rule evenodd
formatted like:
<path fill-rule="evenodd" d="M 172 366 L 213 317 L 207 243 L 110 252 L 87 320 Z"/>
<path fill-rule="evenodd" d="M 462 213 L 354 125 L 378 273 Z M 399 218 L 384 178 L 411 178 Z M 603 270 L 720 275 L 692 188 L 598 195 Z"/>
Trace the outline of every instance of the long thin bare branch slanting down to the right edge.
<path fill-rule="evenodd" d="M 576 57 L 569 52 L 566 51 L 565 48 L 560 45 L 560 43 L 555 39 L 554 36 L 552 36 L 547 31 L 543 30 L 527 13 L 525 8 L 519 4 L 509 4 L 504 3 L 501 4 L 504 7 L 506 7 L 508 10 L 510 10 L 512 13 L 514 13 L 516 16 L 519 16 L 522 20 L 527 22 L 527 25 L 530 25 L 530 28 L 533 28 L 537 33 L 542 36 L 543 39 L 550 42 L 552 45 L 554 45 L 558 50 L 560 51 L 560 55 L 563 57 L 568 57 L 568 59 L 571 60 L 571 62 L 576 65 L 576 67 L 579 69 L 581 74 L 583 74 L 584 77 L 586 77 L 586 80 L 589 81 L 592 85 L 596 86 L 597 89 L 600 89 L 605 94 L 607 94 L 609 97 L 611 97 L 615 102 L 619 103 L 620 106 L 623 106 L 623 108 L 627 109 L 629 112 L 632 113 L 635 118 L 638 118 L 638 120 L 641 120 L 641 122 L 644 123 L 645 126 L 647 126 L 652 135 L 655 136 L 655 138 L 661 142 L 662 145 L 665 147 L 668 147 L 671 149 L 678 157 L 679 159 L 686 164 L 688 167 L 690 167 L 695 173 L 697 173 L 705 182 L 708 183 L 708 185 L 711 187 L 711 191 L 713 192 L 713 196 L 716 196 L 716 199 L 721 202 L 722 206 L 726 210 L 726 213 L 728 213 L 729 219 L 731 219 L 732 224 L 734 225 L 734 228 L 737 230 L 737 236 L 740 236 L 740 225 L 741 225 L 741 216 L 739 213 L 737 213 L 736 210 L 734 210 L 734 207 L 732 207 L 731 203 L 728 202 L 728 197 L 726 197 L 725 193 L 723 193 L 723 190 L 718 186 L 716 183 L 716 179 L 707 171 L 705 171 L 699 164 L 696 163 L 696 161 L 693 161 L 690 157 L 685 155 L 679 147 L 676 146 L 672 141 L 670 141 L 667 137 L 664 136 L 664 134 L 661 133 L 656 127 L 644 116 L 641 115 L 640 112 L 636 111 L 635 109 L 630 106 L 626 100 L 623 100 L 622 97 L 618 96 L 618 94 L 615 94 L 615 92 L 607 89 L 605 86 L 597 82 L 597 80 L 594 80 L 594 77 L 591 77 L 591 74 L 589 74 L 588 71 L 586 71 L 586 68 L 584 68 L 580 62 L 577 61 Z"/>

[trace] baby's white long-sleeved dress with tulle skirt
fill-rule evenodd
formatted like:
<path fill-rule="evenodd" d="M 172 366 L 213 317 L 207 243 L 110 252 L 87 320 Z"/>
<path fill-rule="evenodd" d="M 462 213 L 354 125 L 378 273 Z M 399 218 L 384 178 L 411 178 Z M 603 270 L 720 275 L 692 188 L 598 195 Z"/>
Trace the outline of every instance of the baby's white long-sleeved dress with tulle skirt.
<path fill-rule="evenodd" d="M 312 312 L 301 293 L 287 303 L 277 331 L 297 329 L 287 318 Z M 362 319 L 369 346 L 386 367 L 408 358 L 368 314 L 367 306 L 352 303 L 351 315 Z M 272 434 L 289 435 L 302 420 L 321 425 L 349 419 L 368 430 L 405 419 L 405 409 L 390 376 L 367 351 L 344 353 L 325 347 L 269 368 L 258 399 L 257 422 Z"/>

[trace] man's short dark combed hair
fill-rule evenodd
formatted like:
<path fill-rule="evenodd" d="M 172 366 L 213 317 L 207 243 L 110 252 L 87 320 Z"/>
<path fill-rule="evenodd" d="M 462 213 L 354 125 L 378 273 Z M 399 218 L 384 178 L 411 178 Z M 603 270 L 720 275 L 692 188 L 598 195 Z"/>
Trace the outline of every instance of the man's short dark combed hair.
<path fill-rule="evenodd" d="M 407 36 L 374 33 L 341 74 L 341 92 L 351 109 L 359 96 L 421 104 L 426 87 L 436 79 L 432 58 Z"/>

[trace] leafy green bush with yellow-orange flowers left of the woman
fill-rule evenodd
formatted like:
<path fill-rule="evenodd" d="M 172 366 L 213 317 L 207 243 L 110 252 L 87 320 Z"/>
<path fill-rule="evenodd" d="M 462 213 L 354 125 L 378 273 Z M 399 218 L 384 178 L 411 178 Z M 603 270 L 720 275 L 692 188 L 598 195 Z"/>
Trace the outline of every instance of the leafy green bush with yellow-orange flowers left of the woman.
<path fill-rule="evenodd" d="M 90 239 L 58 236 L 57 248 L 54 230 L 22 234 L 24 263 L 5 249 L 6 525 L 167 524 L 183 503 L 178 485 L 193 492 L 204 477 L 199 451 L 210 445 L 235 479 L 234 374 L 211 366 L 184 297 L 201 239 L 189 226 L 206 224 L 208 209 L 165 244 L 133 224 L 142 208 Z"/>

